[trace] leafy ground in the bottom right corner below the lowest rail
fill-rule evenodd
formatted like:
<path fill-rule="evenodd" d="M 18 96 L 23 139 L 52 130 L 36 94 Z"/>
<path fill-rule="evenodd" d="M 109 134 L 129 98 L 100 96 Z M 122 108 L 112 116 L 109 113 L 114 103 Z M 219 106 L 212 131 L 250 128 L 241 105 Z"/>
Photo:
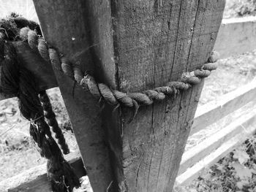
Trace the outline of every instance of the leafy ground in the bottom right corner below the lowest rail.
<path fill-rule="evenodd" d="M 198 177 L 189 188 L 198 192 L 256 191 L 256 137 L 222 158 L 217 164 Z"/>

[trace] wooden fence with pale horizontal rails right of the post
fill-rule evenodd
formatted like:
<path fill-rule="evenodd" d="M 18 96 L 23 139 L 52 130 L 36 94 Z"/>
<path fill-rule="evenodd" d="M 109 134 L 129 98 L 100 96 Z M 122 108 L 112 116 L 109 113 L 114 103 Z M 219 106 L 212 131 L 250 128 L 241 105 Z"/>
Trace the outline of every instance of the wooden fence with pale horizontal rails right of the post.
<path fill-rule="evenodd" d="M 256 18 L 232 18 L 222 20 L 214 49 L 221 58 L 238 55 L 255 49 Z M 178 185 L 184 185 L 200 175 L 206 167 L 215 164 L 230 153 L 234 147 L 256 131 L 256 80 L 236 91 L 197 108 L 190 136 L 211 126 L 230 113 L 250 104 L 249 112 L 233 123 L 211 135 L 199 145 L 184 153 L 176 178 Z"/>

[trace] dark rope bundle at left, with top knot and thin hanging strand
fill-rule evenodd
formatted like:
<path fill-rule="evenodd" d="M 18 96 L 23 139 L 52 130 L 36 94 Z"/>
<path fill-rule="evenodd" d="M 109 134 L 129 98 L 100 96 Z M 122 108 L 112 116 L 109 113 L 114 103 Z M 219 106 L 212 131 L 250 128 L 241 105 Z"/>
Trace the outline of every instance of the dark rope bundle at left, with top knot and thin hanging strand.
<path fill-rule="evenodd" d="M 9 17 L 0 20 L 1 91 L 18 96 L 20 112 L 30 121 L 31 138 L 40 155 L 48 160 L 47 174 L 52 190 L 71 192 L 73 188 L 80 186 L 80 181 L 64 159 L 59 145 L 64 154 L 69 153 L 69 147 L 59 128 L 47 93 L 39 91 L 33 74 L 18 61 L 13 44 L 15 41 L 24 41 L 29 43 L 31 49 L 37 50 L 38 28 L 36 23 L 24 18 Z M 44 49 L 45 44 L 41 42 L 39 47 Z M 48 59 L 47 55 L 45 59 Z M 59 145 L 53 139 L 50 127 L 56 133 Z"/>

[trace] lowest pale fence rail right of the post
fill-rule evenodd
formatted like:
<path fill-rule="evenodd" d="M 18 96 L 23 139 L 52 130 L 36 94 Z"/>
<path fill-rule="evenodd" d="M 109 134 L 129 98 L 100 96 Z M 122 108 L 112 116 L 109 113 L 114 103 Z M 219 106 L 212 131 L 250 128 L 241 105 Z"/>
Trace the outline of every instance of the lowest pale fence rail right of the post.
<path fill-rule="evenodd" d="M 214 134 L 214 136 L 207 139 L 207 141 L 203 142 L 199 147 L 196 146 L 192 148 L 192 150 L 189 150 L 189 152 L 184 153 L 180 173 L 176 178 L 176 185 L 187 185 L 200 176 L 200 173 L 203 172 L 204 169 L 209 168 L 217 163 L 219 159 L 224 158 L 225 155 L 234 150 L 237 145 L 241 145 L 247 137 L 255 134 L 255 125 L 256 111 L 254 110 L 249 113 L 249 115 L 246 115 L 246 117 L 243 116 L 234 123 L 231 123 L 230 126 L 224 128 L 220 134 Z M 221 134 L 225 134 L 225 136 Z M 235 134 L 235 136 L 229 138 L 228 134 Z M 214 137 L 217 137 L 219 140 L 216 140 Z M 208 145 L 208 143 L 212 143 L 212 145 Z M 217 147 L 218 145 L 219 147 Z M 216 149 L 214 149 L 214 147 L 216 147 Z M 192 153 L 195 154 L 192 155 Z M 200 158 L 197 158 L 196 155 L 200 155 Z M 191 160 L 187 159 L 188 156 L 191 157 Z M 194 165 L 189 167 L 192 164 Z M 184 171 L 185 169 L 187 170 Z"/>

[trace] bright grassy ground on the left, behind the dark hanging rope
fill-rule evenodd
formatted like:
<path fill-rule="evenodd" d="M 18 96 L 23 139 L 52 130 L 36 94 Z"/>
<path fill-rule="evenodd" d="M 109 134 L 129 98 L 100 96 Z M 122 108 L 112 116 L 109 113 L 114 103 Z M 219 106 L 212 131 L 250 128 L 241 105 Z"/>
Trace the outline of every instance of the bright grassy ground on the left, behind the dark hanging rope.
<path fill-rule="evenodd" d="M 59 88 L 50 89 L 48 93 L 63 128 L 69 118 Z M 62 131 L 70 151 L 78 150 L 74 134 L 65 129 Z M 31 141 L 29 121 L 20 115 L 18 99 L 0 101 L 0 181 L 40 164 L 45 164 L 45 158 L 40 157 Z"/>

